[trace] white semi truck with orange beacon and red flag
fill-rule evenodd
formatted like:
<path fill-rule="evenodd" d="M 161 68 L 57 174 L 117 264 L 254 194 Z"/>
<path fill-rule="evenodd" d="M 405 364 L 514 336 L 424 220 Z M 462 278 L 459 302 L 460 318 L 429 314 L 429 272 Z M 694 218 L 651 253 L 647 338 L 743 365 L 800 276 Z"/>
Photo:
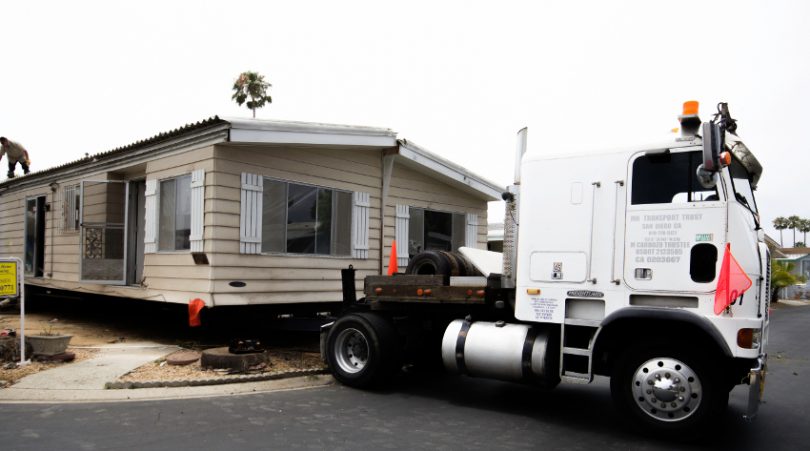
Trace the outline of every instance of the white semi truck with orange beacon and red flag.
<path fill-rule="evenodd" d="M 346 308 L 322 334 L 334 377 L 369 387 L 434 357 L 545 387 L 608 376 L 617 408 L 655 431 L 703 429 L 748 384 L 753 418 L 769 311 L 762 167 L 726 104 L 702 123 L 687 102 L 679 118 L 670 142 L 581 156 L 524 159 L 522 130 L 502 256 L 427 251 L 409 274 L 367 277 L 360 300 L 344 270 Z"/>

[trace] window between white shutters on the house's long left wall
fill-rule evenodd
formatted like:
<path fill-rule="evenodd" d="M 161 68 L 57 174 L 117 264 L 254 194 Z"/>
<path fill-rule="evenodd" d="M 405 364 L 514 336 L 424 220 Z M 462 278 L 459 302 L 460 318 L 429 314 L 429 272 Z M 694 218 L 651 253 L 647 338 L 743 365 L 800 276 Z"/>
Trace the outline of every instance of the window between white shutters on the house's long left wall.
<path fill-rule="evenodd" d="M 179 251 L 190 248 L 191 176 L 184 175 L 160 182 L 158 249 Z"/>

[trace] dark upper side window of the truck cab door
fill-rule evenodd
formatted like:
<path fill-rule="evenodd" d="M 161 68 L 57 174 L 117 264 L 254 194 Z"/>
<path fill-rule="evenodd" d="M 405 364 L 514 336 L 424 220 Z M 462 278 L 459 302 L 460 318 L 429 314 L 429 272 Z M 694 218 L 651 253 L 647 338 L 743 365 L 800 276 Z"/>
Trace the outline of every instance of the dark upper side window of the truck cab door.
<path fill-rule="evenodd" d="M 642 155 L 633 162 L 633 205 L 716 201 L 717 188 L 700 185 L 700 152 Z"/>

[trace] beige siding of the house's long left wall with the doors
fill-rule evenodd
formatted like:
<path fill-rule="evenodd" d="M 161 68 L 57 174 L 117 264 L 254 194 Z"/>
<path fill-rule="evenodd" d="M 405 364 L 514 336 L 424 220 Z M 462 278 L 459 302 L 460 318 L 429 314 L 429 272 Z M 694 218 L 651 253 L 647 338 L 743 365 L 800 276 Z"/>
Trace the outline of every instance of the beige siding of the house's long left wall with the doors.
<path fill-rule="evenodd" d="M 210 267 L 195 265 L 189 251 L 146 254 L 143 286 L 114 286 L 82 282 L 80 277 L 81 233 L 63 229 L 62 208 L 64 188 L 79 185 L 82 180 L 121 179 L 122 176 L 119 174 L 122 172 L 126 172 L 128 178 L 131 179 L 146 177 L 156 180 L 190 174 L 194 169 L 204 169 L 208 173 L 213 168 L 213 152 L 213 146 L 184 150 L 148 162 L 145 173 L 133 172 L 126 164 L 123 164 L 120 168 L 86 175 L 82 178 L 59 179 L 57 176 L 54 179 L 43 181 L 44 186 L 41 187 L 4 193 L 0 196 L 0 255 L 24 258 L 25 199 L 36 195 L 46 195 L 46 202 L 51 205 L 51 209 L 45 216 L 45 277 L 27 277 L 26 283 L 77 292 L 179 303 L 186 303 L 200 297 L 210 305 Z M 51 181 L 59 184 L 55 194 L 51 193 L 48 186 Z M 209 183 L 206 174 L 206 185 Z M 89 205 L 85 211 L 85 218 L 90 221 L 103 221 L 110 213 L 109 210 L 101 207 L 104 205 L 106 195 L 102 192 L 103 190 L 94 191 L 89 194 L 87 199 Z M 206 206 L 208 197 L 208 187 L 206 187 Z M 84 199 L 82 201 L 84 202 Z M 95 208 L 94 205 L 99 208 Z M 207 217 L 208 214 L 209 211 L 206 209 L 205 224 L 212 221 Z M 213 213 L 211 214 L 213 215 Z M 208 232 L 206 231 L 206 233 Z M 214 233 L 216 232 L 214 231 Z M 49 273 L 52 273 L 50 277 Z"/>

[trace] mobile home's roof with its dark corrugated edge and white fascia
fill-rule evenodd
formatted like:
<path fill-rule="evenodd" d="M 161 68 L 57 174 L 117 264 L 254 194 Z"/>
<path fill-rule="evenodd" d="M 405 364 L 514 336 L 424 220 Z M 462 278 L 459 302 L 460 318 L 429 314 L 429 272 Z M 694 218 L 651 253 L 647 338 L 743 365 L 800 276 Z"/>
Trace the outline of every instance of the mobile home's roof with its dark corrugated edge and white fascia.
<path fill-rule="evenodd" d="M 389 128 L 267 119 L 221 119 L 213 116 L 122 147 L 88 155 L 23 177 L 6 179 L 0 182 L 0 192 L 40 185 L 51 181 L 56 175 L 87 172 L 123 159 L 153 157 L 179 146 L 222 142 L 396 148 L 397 155 L 405 164 L 416 166 L 419 170 L 431 173 L 450 185 L 473 192 L 478 197 L 497 200 L 503 191 L 503 187 L 424 148 L 407 140 L 397 141 L 396 132 Z"/>

